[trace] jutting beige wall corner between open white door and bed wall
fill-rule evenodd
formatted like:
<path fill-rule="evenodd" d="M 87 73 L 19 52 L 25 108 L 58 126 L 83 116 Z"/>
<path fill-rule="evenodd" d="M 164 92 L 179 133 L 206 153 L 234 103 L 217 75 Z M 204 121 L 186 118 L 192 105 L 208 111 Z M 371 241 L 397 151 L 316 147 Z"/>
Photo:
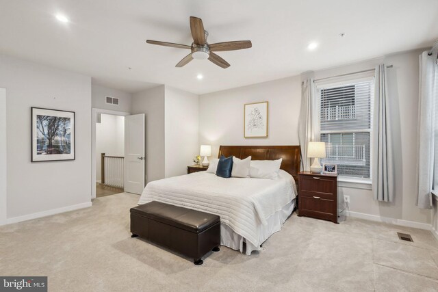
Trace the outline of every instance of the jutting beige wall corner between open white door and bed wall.
<path fill-rule="evenodd" d="M 146 114 L 146 182 L 187 173 L 199 152 L 198 96 L 165 85 L 133 94 L 131 114 Z"/>

